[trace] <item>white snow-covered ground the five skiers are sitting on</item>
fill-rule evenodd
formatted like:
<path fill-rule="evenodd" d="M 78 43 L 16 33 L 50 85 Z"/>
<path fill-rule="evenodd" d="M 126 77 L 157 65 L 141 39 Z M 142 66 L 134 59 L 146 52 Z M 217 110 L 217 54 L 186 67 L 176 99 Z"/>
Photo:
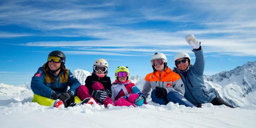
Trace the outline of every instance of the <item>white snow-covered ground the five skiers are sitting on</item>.
<path fill-rule="evenodd" d="M 142 107 L 104 108 L 81 105 L 57 109 L 32 101 L 32 91 L 0 84 L 1 128 L 253 128 L 256 109 L 228 108 L 204 104 L 189 108 L 170 102 L 160 106 L 149 102 Z M 151 99 L 148 99 L 151 100 Z"/>

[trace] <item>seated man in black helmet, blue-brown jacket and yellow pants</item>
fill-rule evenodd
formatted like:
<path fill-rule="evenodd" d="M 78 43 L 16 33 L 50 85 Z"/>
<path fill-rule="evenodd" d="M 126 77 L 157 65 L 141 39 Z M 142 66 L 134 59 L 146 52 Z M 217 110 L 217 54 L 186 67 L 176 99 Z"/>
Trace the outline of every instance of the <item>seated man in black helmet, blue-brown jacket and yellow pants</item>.
<path fill-rule="evenodd" d="M 66 56 L 63 52 L 59 50 L 50 52 L 47 62 L 38 68 L 32 77 L 33 102 L 56 108 L 63 105 L 74 106 L 75 102 L 81 102 L 76 96 L 76 89 L 81 84 L 74 74 L 65 68 L 65 62 Z"/>

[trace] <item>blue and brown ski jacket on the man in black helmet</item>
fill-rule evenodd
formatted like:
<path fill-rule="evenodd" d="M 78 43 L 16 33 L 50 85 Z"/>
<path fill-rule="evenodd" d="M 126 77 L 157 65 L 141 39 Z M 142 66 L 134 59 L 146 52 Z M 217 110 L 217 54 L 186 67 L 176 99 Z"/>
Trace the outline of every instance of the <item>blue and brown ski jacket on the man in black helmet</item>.
<path fill-rule="evenodd" d="M 48 62 L 38 68 L 38 71 L 32 77 L 31 89 L 34 94 L 51 98 L 55 92 L 67 92 L 68 86 L 70 86 L 68 92 L 72 92 L 73 96 L 75 96 L 76 90 L 81 84 L 74 74 L 64 66 L 60 69 L 58 76 L 55 76 L 46 65 L 48 65 Z"/>

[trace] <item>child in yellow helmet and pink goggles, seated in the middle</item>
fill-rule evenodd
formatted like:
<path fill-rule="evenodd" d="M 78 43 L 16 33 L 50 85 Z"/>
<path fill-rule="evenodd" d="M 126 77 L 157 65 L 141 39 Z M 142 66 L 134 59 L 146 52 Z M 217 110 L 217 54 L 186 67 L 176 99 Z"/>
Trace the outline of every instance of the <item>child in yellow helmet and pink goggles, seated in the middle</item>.
<path fill-rule="evenodd" d="M 130 82 L 128 67 L 119 66 L 116 69 L 116 80 L 111 86 L 112 101 L 115 106 L 142 106 L 146 104 L 146 96 Z"/>

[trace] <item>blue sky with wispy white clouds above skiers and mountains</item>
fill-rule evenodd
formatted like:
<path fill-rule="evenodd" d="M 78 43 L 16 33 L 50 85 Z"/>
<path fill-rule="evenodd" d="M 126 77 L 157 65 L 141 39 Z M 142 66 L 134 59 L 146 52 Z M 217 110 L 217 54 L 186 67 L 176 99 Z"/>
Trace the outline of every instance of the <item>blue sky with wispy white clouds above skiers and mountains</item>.
<path fill-rule="evenodd" d="M 66 67 L 92 72 L 98 58 L 131 76 L 152 72 L 150 57 L 162 52 L 194 54 L 185 37 L 194 34 L 213 75 L 256 61 L 255 0 L 2 0 L 0 83 L 31 81 L 49 52 L 66 54 Z"/>

